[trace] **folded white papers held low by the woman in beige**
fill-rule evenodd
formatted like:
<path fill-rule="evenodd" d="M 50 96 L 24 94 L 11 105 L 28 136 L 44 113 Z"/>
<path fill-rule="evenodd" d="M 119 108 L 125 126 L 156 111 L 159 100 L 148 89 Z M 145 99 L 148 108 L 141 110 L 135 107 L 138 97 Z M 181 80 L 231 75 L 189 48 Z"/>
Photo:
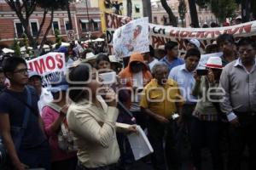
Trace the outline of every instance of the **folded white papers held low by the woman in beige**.
<path fill-rule="evenodd" d="M 128 134 L 127 137 L 136 161 L 154 152 L 142 127 L 137 126 L 137 133 Z"/>

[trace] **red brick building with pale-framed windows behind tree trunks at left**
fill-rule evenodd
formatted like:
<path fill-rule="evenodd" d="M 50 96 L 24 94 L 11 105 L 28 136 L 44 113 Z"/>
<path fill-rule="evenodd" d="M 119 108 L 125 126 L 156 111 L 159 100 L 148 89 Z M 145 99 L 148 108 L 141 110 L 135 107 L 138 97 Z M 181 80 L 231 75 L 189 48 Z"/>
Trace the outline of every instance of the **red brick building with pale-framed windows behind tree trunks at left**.
<path fill-rule="evenodd" d="M 71 16 L 73 30 L 77 39 L 88 39 L 90 35 L 100 37 L 102 35 L 101 15 L 99 8 L 89 8 L 86 3 L 71 3 Z M 44 10 L 37 8 L 30 17 L 29 28 L 32 36 L 38 35 L 40 24 L 44 17 Z M 44 32 L 50 25 L 50 14 L 46 15 L 46 20 L 39 35 L 38 42 L 44 36 Z M 49 41 L 55 42 L 55 29 L 60 31 L 62 39 L 67 41 L 67 31 L 69 28 L 69 21 L 67 11 L 55 10 L 54 19 L 51 23 L 51 30 L 47 36 Z M 89 33 L 90 32 L 90 33 Z M 4 1 L 0 1 L 0 45 L 9 46 L 14 42 L 15 38 L 21 38 L 24 33 L 20 20 L 15 12 L 9 8 L 9 5 Z"/>

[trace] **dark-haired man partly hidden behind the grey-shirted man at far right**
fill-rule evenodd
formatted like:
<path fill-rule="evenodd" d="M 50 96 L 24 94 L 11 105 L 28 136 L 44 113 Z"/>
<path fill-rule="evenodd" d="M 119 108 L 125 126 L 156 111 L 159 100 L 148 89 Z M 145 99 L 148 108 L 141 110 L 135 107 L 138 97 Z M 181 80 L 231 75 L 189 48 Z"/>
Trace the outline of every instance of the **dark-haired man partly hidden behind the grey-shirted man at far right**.
<path fill-rule="evenodd" d="M 217 45 L 220 52 L 223 52 L 223 55 L 221 56 L 223 65 L 227 65 L 236 59 L 236 44 L 232 35 L 222 34 L 218 36 Z"/>

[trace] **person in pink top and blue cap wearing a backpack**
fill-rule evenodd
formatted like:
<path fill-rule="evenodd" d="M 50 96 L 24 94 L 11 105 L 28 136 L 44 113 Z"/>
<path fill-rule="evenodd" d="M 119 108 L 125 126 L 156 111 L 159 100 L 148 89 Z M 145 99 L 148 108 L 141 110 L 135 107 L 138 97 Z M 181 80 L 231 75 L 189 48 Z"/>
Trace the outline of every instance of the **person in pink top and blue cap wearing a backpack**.
<path fill-rule="evenodd" d="M 61 138 L 60 134 L 65 130 L 63 128 L 67 127 L 66 114 L 68 104 L 66 92 L 68 84 L 65 78 L 63 78 L 61 82 L 59 77 L 56 78 L 57 79 L 51 81 L 52 87 L 49 88 L 54 100 L 44 106 L 42 114 L 45 133 L 48 136 L 51 148 L 51 169 L 74 170 L 78 160 L 76 156 L 77 152 L 73 146 L 73 140 L 67 142 L 66 139 Z M 72 133 L 68 133 L 68 135 L 68 138 L 73 139 Z"/>

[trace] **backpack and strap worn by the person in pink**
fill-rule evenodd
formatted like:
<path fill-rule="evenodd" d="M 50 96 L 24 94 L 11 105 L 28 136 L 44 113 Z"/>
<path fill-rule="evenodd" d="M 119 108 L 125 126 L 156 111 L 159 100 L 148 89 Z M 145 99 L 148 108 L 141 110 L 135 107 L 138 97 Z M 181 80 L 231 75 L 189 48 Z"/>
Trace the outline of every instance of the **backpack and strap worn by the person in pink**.
<path fill-rule="evenodd" d="M 59 105 L 55 105 L 54 103 L 48 103 L 47 106 L 58 113 L 61 111 L 61 107 Z M 64 118 L 63 122 L 61 122 L 61 128 L 58 133 L 58 145 L 61 150 L 66 152 L 78 150 L 77 144 L 74 142 L 73 132 L 68 128 L 66 117 Z"/>

